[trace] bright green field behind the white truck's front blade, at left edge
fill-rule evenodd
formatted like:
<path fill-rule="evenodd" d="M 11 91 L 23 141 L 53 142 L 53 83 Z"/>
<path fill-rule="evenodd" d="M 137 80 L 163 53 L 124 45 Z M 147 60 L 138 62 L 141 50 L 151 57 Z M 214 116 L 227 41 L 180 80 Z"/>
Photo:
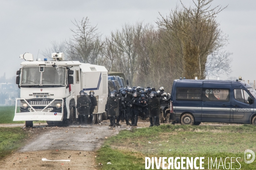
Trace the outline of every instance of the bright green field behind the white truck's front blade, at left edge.
<path fill-rule="evenodd" d="M 13 122 L 15 113 L 15 106 L 0 106 L 0 123 L 25 123 L 25 121 Z M 37 121 L 39 123 L 45 123 L 46 121 Z"/>

